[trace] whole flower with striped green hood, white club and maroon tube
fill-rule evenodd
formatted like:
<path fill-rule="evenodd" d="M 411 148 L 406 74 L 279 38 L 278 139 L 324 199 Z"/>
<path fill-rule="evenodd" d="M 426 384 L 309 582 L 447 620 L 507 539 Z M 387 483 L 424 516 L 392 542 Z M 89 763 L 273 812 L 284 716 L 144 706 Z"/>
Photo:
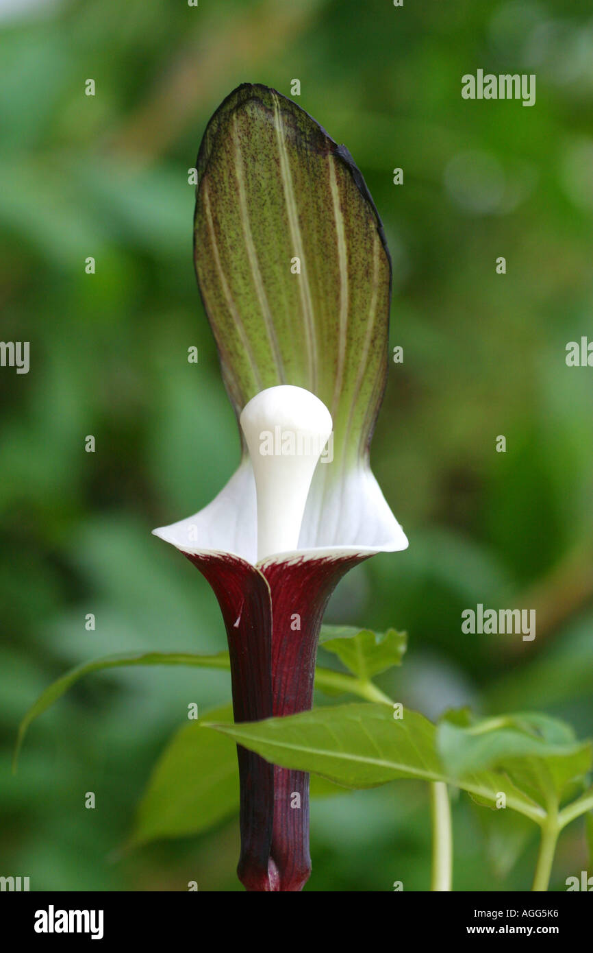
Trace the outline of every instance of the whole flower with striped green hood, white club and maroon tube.
<path fill-rule="evenodd" d="M 369 467 L 391 264 L 349 152 L 276 91 L 233 91 L 197 170 L 195 268 L 242 459 L 205 509 L 154 533 L 208 579 L 234 718 L 261 720 L 311 707 L 322 618 L 347 570 L 407 546 Z M 237 752 L 239 877 L 300 890 L 308 775 Z"/>

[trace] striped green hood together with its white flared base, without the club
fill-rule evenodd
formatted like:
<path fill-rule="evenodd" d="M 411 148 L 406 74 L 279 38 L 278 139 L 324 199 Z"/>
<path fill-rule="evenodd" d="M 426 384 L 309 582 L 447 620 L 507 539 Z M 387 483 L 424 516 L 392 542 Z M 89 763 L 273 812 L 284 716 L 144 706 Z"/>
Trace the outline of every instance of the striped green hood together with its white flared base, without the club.
<path fill-rule="evenodd" d="M 300 557 L 405 549 L 369 467 L 385 389 L 391 262 L 364 179 L 306 112 L 244 84 L 208 123 L 197 160 L 194 251 L 200 292 L 235 413 L 292 384 L 333 419 L 315 471 Z M 204 510 L 155 530 L 185 553 L 256 561 L 253 471 L 243 458 Z"/>

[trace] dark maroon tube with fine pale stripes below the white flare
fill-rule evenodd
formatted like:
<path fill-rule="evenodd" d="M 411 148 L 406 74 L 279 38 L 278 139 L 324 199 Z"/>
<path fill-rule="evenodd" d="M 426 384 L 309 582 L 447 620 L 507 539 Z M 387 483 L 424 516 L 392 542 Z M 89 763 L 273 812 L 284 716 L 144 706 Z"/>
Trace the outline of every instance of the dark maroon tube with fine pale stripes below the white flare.
<path fill-rule="evenodd" d="M 208 579 L 227 628 L 236 722 L 308 711 L 328 598 L 366 556 L 306 556 L 255 567 L 230 555 L 188 556 Z M 299 891 L 311 872 L 308 774 L 237 745 L 239 880 L 248 891 Z"/>

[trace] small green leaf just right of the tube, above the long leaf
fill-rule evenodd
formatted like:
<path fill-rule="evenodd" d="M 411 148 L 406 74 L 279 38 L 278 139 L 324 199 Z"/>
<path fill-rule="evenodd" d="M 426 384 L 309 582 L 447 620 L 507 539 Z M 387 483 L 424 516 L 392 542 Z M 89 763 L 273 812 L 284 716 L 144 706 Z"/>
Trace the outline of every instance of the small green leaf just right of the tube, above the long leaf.
<path fill-rule="evenodd" d="M 340 633 L 344 633 L 345 629 L 338 626 L 325 628 L 324 648 L 337 655 L 359 679 L 372 679 L 392 665 L 402 664 L 407 640 L 405 632 L 396 632 L 395 629 L 387 629 L 383 633 L 371 632 L 370 629 L 347 629 L 346 636 L 327 638 L 328 628 L 335 628 Z"/>

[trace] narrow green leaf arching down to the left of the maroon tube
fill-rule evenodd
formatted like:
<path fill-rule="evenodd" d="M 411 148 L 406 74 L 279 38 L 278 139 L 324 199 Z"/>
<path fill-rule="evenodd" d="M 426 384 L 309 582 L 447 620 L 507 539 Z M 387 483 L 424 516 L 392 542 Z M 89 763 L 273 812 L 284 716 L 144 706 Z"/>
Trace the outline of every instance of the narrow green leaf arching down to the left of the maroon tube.
<path fill-rule="evenodd" d="M 128 665 L 197 665 L 200 668 L 229 668 L 228 653 L 219 652 L 216 655 L 192 655 L 185 652 L 134 652 L 131 654 L 106 656 L 105 659 L 94 659 L 70 669 L 66 675 L 52 682 L 45 692 L 31 705 L 29 711 L 21 721 L 18 729 L 12 769 L 16 770 L 19 751 L 31 721 L 47 711 L 54 701 L 60 699 L 71 686 L 91 672 L 101 672 L 108 668 L 121 668 Z"/>

